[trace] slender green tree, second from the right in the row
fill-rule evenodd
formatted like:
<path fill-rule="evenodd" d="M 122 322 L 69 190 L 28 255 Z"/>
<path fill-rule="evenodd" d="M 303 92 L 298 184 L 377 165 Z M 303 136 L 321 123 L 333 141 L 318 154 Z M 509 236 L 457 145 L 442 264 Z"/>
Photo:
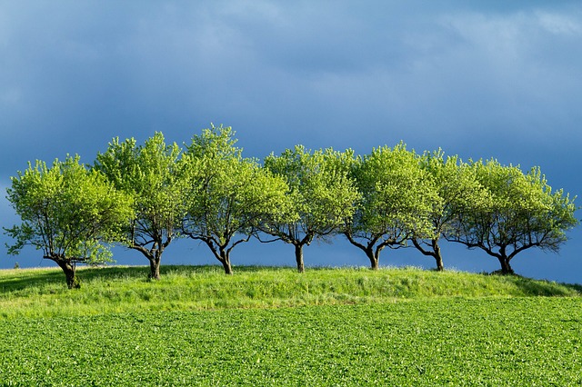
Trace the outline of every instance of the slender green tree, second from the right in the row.
<path fill-rule="evenodd" d="M 430 178 L 436 200 L 428 219 L 432 230 L 425 237 L 414 234 L 411 242 L 416 249 L 426 256 L 433 257 L 437 270 L 444 270 L 443 257 L 439 246 L 441 236 L 454 232 L 458 217 L 467 212 L 467 208 L 477 208 L 487 203 L 487 192 L 475 176 L 474 169 L 463 163 L 457 155 L 447 156 L 442 150 L 426 152 L 420 159 L 420 165 Z"/>

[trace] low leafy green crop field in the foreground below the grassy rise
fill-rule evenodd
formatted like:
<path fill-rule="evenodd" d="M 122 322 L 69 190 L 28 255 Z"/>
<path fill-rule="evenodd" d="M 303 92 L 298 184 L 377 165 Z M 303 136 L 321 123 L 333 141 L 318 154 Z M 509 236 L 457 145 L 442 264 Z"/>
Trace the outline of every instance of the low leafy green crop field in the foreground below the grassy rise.
<path fill-rule="evenodd" d="M 579 298 L 442 299 L 24 318 L 0 322 L 0 380 L 576 385 L 580 306 Z"/>

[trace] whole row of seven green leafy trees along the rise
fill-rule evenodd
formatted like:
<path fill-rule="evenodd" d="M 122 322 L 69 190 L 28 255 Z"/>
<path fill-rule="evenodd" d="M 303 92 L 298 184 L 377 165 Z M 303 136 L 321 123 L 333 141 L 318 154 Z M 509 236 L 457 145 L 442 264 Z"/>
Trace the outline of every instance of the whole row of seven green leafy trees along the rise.
<path fill-rule="evenodd" d="M 510 261 L 537 247 L 557 251 L 578 223 L 574 199 L 553 191 L 539 168 L 523 173 L 496 160 L 462 162 L 442 151 L 416 154 L 405 144 L 370 154 L 297 145 L 261 165 L 236 147 L 230 127 L 195 135 L 182 150 L 156 133 L 144 144 L 114 139 L 92 165 L 79 157 L 37 161 L 12 179 L 7 198 L 22 223 L 5 232 L 64 271 L 79 286 L 76 263 L 111 261 L 122 243 L 144 254 L 158 279 L 176 237 L 205 243 L 227 274 L 230 255 L 251 237 L 303 248 L 345 235 L 373 269 L 386 247 L 416 247 L 443 270 L 441 239 Z"/>

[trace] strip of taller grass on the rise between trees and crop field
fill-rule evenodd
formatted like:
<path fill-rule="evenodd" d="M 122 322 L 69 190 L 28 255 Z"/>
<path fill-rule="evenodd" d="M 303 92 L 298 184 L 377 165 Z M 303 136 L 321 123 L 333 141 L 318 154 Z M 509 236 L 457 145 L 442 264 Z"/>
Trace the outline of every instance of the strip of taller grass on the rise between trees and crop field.
<path fill-rule="evenodd" d="M 166 266 L 160 281 L 149 281 L 145 267 L 82 268 L 82 288 L 74 291 L 57 269 L 0 271 L 0 318 L 582 293 L 579 285 L 417 268 L 236 269 L 227 276 L 218 266 Z"/>

